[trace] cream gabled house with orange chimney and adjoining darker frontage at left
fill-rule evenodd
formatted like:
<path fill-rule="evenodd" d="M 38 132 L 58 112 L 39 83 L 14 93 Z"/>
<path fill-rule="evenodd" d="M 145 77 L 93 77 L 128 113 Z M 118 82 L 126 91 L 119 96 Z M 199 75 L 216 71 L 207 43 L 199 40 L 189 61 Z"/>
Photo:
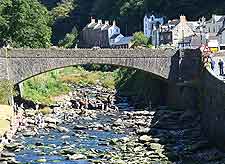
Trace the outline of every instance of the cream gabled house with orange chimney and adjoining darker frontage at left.
<path fill-rule="evenodd" d="M 181 15 L 180 19 L 169 20 L 166 24 L 161 25 L 153 31 L 152 44 L 171 45 L 177 48 L 193 48 L 193 46 L 200 46 L 201 41 L 197 35 L 198 31 L 197 21 L 187 21 L 186 17 Z M 196 45 L 193 45 L 196 44 Z"/>

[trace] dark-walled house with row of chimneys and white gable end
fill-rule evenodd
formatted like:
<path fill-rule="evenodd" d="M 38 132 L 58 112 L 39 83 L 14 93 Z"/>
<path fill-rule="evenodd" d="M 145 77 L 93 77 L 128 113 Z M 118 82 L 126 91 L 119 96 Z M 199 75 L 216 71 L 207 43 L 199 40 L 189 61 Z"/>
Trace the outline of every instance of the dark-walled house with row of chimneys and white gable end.
<path fill-rule="evenodd" d="M 116 21 L 113 21 L 113 24 L 110 25 L 109 21 L 103 23 L 102 20 L 98 20 L 96 23 L 96 20 L 92 18 L 91 22 L 80 33 L 79 47 L 129 47 L 124 46 L 125 41 L 128 41 L 128 39 L 120 33 L 120 28 L 116 25 Z M 128 43 L 125 45 L 128 45 Z"/>

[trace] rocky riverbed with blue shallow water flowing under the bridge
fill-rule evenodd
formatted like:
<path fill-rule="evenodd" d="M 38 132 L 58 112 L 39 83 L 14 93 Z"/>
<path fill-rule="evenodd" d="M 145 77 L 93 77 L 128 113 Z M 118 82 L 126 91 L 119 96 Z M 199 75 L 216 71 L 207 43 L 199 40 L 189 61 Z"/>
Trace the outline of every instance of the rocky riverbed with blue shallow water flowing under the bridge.
<path fill-rule="evenodd" d="M 23 123 L 5 145 L 0 163 L 225 163 L 225 154 L 201 134 L 198 112 L 135 109 L 113 90 L 73 87 L 73 93 L 56 98 L 58 103 L 43 116 L 23 109 Z M 115 105 L 101 107 L 109 95 Z"/>

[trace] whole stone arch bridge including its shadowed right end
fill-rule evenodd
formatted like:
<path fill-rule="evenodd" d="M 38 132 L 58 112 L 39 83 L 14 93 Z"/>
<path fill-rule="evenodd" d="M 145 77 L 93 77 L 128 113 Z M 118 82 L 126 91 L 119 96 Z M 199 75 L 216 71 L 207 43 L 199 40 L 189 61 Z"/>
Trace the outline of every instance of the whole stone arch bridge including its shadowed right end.
<path fill-rule="evenodd" d="M 174 49 L 0 49 L 0 80 L 14 84 L 35 75 L 73 65 L 109 64 L 136 68 L 162 79 L 198 77 L 198 50 Z"/>

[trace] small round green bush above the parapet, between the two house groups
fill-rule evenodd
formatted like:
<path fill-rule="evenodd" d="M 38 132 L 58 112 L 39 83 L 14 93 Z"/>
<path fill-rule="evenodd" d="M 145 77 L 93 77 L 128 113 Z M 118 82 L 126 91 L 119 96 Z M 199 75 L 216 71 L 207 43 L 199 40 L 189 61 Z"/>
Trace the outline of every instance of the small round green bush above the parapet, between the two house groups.
<path fill-rule="evenodd" d="M 135 46 L 147 46 L 149 39 L 144 35 L 143 32 L 135 32 L 132 42 Z"/>

